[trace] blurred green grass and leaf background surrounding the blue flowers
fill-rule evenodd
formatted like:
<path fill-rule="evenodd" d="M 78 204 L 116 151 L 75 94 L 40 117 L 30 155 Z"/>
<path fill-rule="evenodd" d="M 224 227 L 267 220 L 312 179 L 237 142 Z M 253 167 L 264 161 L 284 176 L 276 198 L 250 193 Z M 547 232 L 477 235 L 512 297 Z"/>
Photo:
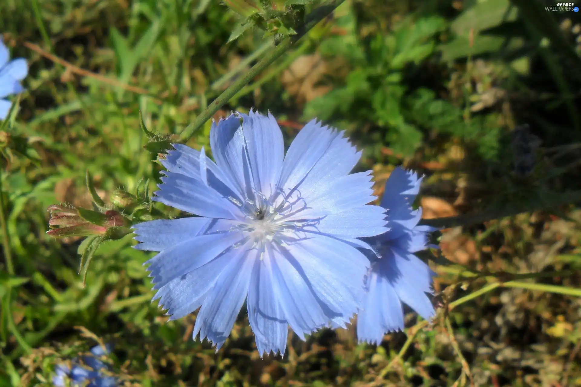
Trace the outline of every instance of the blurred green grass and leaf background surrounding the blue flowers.
<path fill-rule="evenodd" d="M 394 166 L 426 175 L 426 217 L 543 207 L 581 188 L 581 16 L 544 9 L 555 5 L 348 0 L 215 118 L 270 110 L 288 141 L 313 117 L 347 130 L 378 194 Z M 160 138 L 180 133 L 270 43 L 258 29 L 228 42 L 241 18 L 209 0 L 3 0 L 0 15 L 12 56 L 30 64 L 19 116 L 0 132 L 15 264 L 8 275 L 0 259 L 0 386 L 50 385 L 55 364 L 96 338 L 114 343 L 127 386 L 581 385 L 570 205 L 444 231 L 442 252 L 425 257 L 449 313 L 433 324 L 409 313 L 407 335 L 380 346 L 325 330 L 260 359 L 241 313 L 215 353 L 192 341 L 195 314 L 167 322 L 150 302 L 150 255 L 131 235 L 101 245 L 83 288 L 80 240 L 46 236 L 46 207 L 90 208 L 87 170 L 106 203 L 142 179 L 155 190 L 139 110 Z M 188 145 L 208 149 L 209 128 Z"/>

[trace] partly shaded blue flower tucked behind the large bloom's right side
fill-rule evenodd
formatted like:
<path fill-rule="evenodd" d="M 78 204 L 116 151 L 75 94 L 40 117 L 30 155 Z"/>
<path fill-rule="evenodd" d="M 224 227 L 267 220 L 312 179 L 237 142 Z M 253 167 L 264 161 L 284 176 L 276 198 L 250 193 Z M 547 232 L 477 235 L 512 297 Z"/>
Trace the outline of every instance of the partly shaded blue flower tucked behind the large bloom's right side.
<path fill-rule="evenodd" d="M 385 183 L 381 206 L 387 209 L 389 231 L 374 238 L 364 238 L 378 256 L 370 256 L 371 270 L 365 282 L 363 310 L 357 316 L 360 342 L 381 343 L 389 331 L 404 328 L 403 306 L 407 304 L 428 320 L 434 316 L 432 293 L 435 273 L 415 252 L 428 247 L 429 232 L 435 228 L 418 225 L 421 209 L 411 204 L 418 195 L 422 179 L 416 173 L 396 168 Z"/>

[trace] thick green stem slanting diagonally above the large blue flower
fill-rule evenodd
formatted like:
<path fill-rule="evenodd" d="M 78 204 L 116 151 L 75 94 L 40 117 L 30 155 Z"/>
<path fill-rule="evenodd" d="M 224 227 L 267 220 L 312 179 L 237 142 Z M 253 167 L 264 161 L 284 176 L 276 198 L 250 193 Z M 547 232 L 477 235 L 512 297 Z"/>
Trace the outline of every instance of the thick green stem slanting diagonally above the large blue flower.
<path fill-rule="evenodd" d="M 306 23 L 304 26 L 297 28 L 297 34 L 293 35 L 292 37 L 286 38 L 282 41 L 279 45 L 275 46 L 267 53 L 267 55 L 260 60 L 259 63 L 256 63 L 246 75 L 242 78 L 239 78 L 234 83 L 232 83 L 227 89 L 224 90 L 222 94 L 218 96 L 218 98 L 214 99 L 214 102 L 210 103 L 206 109 L 200 113 L 198 117 L 193 121 L 193 123 L 189 124 L 187 127 L 180 134 L 180 142 L 187 142 L 190 138 L 192 138 L 193 134 L 201 128 L 207 120 L 209 120 L 220 107 L 224 106 L 233 96 L 238 94 L 239 91 L 245 85 L 249 84 L 250 81 L 253 80 L 258 74 L 260 74 L 264 69 L 274 63 L 275 60 L 281 57 L 290 47 L 292 47 L 297 40 L 302 38 L 311 28 L 315 26 L 318 22 L 320 22 L 324 17 L 328 16 L 341 5 L 345 0 L 335 0 L 330 2 L 328 5 L 320 6 L 319 8 L 313 10 L 309 15 L 306 16 Z"/>

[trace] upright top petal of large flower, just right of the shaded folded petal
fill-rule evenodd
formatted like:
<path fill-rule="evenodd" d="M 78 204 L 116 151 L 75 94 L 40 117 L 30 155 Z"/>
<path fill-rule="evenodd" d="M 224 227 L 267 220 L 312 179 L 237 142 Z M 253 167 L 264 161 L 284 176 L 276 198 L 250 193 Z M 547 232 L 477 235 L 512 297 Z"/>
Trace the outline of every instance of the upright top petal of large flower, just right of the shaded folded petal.
<path fill-rule="evenodd" d="M 254 187 L 270 198 L 277 188 L 285 156 L 281 128 L 270 113 L 265 117 L 251 111 L 241 116 Z"/>

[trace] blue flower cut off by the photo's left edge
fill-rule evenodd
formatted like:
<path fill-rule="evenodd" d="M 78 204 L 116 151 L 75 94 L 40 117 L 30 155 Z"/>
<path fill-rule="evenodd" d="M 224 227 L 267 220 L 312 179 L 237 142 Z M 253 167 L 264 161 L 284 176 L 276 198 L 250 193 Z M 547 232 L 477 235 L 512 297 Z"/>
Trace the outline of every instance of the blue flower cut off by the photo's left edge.
<path fill-rule="evenodd" d="M 5 99 L 12 94 L 24 91 L 20 81 L 28 74 L 28 64 L 24 58 L 10 60 L 8 47 L 0 34 L 0 120 L 8 116 L 12 102 Z"/>

